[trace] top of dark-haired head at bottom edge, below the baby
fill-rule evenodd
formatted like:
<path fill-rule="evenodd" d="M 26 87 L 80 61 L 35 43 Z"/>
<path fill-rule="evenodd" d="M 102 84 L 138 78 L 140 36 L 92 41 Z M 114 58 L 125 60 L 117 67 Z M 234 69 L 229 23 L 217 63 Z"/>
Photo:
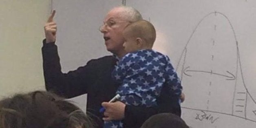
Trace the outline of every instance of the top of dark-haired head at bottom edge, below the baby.
<path fill-rule="evenodd" d="M 160 113 L 147 119 L 141 128 L 189 128 L 179 116 L 172 113 Z"/>

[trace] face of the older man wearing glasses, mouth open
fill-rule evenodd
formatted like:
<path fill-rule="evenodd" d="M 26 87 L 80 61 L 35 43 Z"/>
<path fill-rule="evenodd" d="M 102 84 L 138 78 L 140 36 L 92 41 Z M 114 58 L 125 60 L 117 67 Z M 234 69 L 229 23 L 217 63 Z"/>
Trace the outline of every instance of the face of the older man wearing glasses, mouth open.
<path fill-rule="evenodd" d="M 122 17 L 121 9 L 111 10 L 104 19 L 104 25 L 100 31 L 104 34 L 105 45 L 108 51 L 122 56 L 125 54 L 122 32 L 129 22 Z"/>

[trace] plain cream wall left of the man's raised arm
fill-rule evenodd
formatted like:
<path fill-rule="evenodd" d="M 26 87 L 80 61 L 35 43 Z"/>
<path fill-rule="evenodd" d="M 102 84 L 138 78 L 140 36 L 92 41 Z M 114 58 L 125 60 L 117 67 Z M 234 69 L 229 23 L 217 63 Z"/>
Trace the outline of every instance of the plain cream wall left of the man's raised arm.
<path fill-rule="evenodd" d="M 0 0 L 0 98 L 44 89 L 42 39 L 51 0 Z"/>

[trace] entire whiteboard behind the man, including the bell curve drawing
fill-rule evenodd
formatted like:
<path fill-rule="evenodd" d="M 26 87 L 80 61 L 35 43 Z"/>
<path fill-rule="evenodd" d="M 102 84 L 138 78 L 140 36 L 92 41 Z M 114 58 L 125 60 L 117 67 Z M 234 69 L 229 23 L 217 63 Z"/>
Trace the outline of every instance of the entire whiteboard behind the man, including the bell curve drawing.
<path fill-rule="evenodd" d="M 53 2 L 63 71 L 110 54 L 97 28 L 107 10 L 121 4 L 68 2 Z M 126 0 L 126 5 L 154 24 L 154 49 L 170 57 L 181 77 L 182 118 L 191 128 L 255 128 L 256 0 Z"/>

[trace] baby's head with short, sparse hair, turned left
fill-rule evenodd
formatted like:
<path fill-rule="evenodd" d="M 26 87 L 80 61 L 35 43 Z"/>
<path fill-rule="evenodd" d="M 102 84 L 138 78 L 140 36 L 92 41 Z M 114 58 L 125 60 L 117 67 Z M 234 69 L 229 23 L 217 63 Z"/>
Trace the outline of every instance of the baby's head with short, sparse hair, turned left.
<path fill-rule="evenodd" d="M 126 52 L 152 49 L 156 40 L 156 30 L 150 22 L 139 20 L 126 26 L 123 36 L 125 41 L 123 46 Z"/>

